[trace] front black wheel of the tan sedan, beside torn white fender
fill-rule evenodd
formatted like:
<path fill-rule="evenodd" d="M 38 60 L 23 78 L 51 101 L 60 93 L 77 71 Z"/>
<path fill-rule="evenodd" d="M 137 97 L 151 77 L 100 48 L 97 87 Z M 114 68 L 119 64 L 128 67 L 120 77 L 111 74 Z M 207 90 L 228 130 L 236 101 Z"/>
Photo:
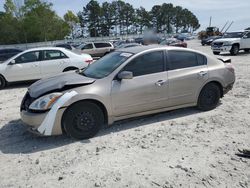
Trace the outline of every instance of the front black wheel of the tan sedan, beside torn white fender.
<path fill-rule="evenodd" d="M 92 138 L 103 124 L 103 112 L 92 102 L 75 103 L 65 111 L 62 117 L 65 132 L 75 139 Z"/>

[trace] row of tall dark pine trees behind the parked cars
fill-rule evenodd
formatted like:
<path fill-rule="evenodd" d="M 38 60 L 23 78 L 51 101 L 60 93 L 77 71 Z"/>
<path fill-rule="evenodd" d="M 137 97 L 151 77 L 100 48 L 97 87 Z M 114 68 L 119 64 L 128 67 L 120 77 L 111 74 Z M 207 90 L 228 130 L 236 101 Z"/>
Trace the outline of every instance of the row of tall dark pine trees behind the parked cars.
<path fill-rule="evenodd" d="M 90 0 L 78 17 L 81 26 L 87 28 L 92 37 L 109 36 L 112 33 L 137 34 L 143 33 L 145 29 L 166 33 L 192 32 L 200 27 L 191 11 L 172 3 L 155 5 L 147 11 L 143 7 L 134 8 L 122 0 L 102 4 Z"/>

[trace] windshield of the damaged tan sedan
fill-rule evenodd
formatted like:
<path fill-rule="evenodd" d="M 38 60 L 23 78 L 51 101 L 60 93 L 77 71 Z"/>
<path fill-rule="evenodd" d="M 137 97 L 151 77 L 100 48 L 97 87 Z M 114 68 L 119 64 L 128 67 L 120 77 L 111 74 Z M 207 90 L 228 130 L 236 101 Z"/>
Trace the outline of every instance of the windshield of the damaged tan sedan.
<path fill-rule="evenodd" d="M 97 60 L 86 68 L 82 74 L 90 78 L 104 78 L 124 63 L 133 54 L 127 52 L 113 52 Z"/>

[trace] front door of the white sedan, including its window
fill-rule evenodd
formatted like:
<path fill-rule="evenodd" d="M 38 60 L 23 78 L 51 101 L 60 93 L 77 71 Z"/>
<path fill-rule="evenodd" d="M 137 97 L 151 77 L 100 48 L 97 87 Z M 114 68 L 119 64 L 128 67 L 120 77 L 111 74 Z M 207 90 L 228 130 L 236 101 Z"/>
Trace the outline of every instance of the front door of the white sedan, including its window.
<path fill-rule="evenodd" d="M 15 58 L 15 64 L 6 68 L 6 79 L 10 82 L 36 80 L 41 78 L 41 51 L 26 52 Z"/>

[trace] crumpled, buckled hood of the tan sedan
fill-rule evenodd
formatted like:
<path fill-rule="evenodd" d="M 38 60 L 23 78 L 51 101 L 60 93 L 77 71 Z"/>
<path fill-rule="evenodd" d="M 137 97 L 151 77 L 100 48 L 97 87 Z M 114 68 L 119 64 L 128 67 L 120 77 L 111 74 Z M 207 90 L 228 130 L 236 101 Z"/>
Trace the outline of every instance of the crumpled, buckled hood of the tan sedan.
<path fill-rule="evenodd" d="M 93 78 L 82 76 L 76 72 L 67 72 L 35 82 L 28 88 L 28 92 L 32 98 L 37 98 L 50 91 L 62 91 L 94 82 Z"/>

